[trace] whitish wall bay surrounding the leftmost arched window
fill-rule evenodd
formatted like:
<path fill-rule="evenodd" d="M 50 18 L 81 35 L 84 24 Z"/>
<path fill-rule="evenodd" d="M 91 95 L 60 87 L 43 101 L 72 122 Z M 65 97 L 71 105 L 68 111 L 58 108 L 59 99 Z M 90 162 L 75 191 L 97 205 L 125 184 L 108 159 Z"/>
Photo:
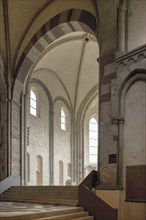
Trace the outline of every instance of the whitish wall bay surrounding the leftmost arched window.
<path fill-rule="evenodd" d="M 49 104 L 48 99 L 40 86 L 31 85 L 38 92 L 38 116 L 29 112 L 29 100 L 27 108 L 27 152 L 30 155 L 30 182 L 29 185 L 37 185 L 37 156 L 42 158 L 42 185 L 49 184 Z M 31 88 L 30 87 L 30 88 Z M 28 132 L 28 131 L 27 131 Z M 29 136 L 29 137 L 28 137 Z M 29 140 L 28 140 L 29 139 Z M 29 143 L 28 143 L 29 142 Z"/>

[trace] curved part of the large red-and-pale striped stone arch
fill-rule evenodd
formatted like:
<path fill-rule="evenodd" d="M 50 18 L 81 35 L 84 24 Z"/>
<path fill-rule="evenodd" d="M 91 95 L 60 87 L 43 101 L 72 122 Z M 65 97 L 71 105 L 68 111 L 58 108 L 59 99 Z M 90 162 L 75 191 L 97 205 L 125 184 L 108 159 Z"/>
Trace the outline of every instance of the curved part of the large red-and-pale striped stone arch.
<path fill-rule="evenodd" d="M 91 33 L 98 38 L 96 18 L 88 11 L 70 9 L 45 23 L 22 53 L 15 71 L 15 88 L 16 84 L 20 87 L 24 83 L 31 66 L 49 44 L 65 34 L 76 31 Z"/>

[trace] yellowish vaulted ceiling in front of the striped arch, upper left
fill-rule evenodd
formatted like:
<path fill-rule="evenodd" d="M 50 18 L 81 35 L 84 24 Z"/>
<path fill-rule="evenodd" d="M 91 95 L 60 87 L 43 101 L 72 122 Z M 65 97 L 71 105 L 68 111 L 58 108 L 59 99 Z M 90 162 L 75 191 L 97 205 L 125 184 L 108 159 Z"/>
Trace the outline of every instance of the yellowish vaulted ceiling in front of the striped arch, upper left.
<path fill-rule="evenodd" d="M 13 70 L 33 35 L 52 17 L 72 8 L 95 15 L 89 0 L 81 0 L 80 4 L 73 0 L 0 0 L 0 47 L 5 60 L 9 47 Z"/>

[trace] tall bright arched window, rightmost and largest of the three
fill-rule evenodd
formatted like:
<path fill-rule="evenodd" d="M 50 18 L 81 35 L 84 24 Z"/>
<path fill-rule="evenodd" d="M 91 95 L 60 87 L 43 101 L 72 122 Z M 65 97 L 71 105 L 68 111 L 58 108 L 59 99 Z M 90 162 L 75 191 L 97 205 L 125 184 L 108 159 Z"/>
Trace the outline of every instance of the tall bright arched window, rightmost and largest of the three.
<path fill-rule="evenodd" d="M 98 125 L 94 117 L 89 121 L 89 163 L 97 164 Z"/>

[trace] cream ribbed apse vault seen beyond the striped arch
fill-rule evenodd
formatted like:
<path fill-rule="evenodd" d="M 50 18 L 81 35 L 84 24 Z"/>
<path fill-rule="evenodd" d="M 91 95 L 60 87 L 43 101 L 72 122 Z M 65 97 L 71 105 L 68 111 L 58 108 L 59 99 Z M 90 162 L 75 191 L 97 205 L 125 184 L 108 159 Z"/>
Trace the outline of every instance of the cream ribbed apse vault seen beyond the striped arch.
<path fill-rule="evenodd" d="M 53 98 L 65 97 L 77 109 L 93 89 L 98 89 L 98 43 L 84 32 L 56 40 L 34 66 L 31 77 L 39 79 Z"/>

